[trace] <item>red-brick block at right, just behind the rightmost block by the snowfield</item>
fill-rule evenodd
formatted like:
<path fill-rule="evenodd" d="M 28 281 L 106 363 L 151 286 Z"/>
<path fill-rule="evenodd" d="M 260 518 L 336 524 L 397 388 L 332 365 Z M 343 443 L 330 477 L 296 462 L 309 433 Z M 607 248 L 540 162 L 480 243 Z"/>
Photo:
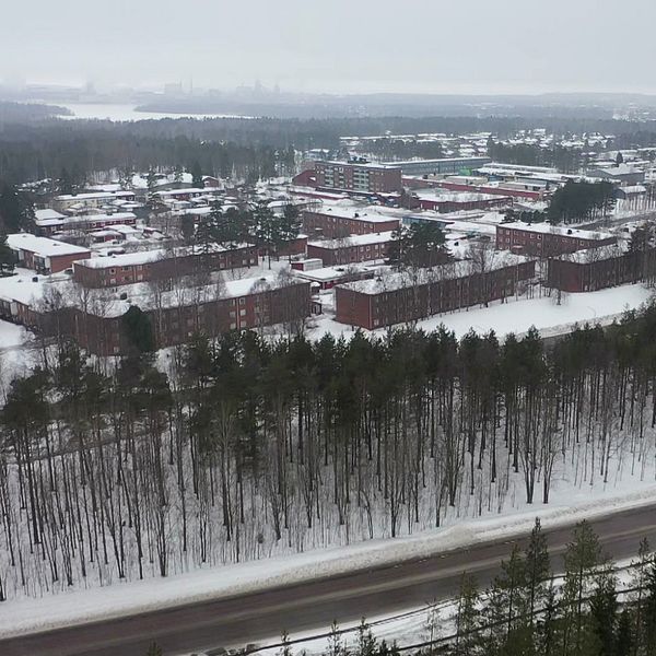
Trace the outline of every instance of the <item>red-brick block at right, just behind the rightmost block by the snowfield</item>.
<path fill-rule="evenodd" d="M 610 246 L 616 237 L 547 223 L 504 223 L 496 226 L 496 248 L 539 257 L 555 257 L 584 248 Z"/>

